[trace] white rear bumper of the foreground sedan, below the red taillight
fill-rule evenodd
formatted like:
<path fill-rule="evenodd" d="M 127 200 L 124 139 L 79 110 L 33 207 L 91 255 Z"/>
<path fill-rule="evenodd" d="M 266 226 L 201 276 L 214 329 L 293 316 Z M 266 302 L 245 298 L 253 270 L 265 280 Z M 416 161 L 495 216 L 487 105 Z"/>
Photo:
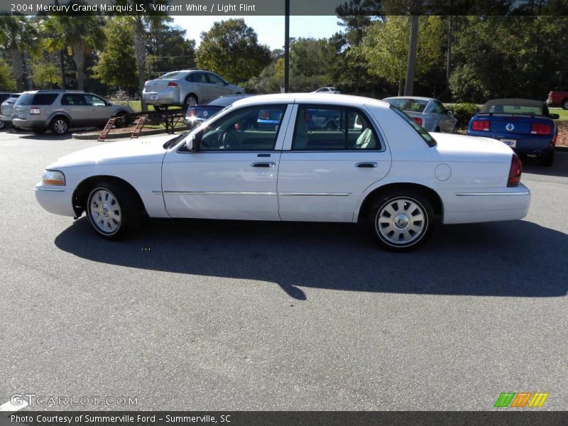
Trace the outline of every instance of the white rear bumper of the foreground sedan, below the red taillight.
<path fill-rule="evenodd" d="M 444 224 L 523 219 L 530 206 L 530 190 L 523 184 L 486 190 L 445 190 L 440 196 Z"/>

